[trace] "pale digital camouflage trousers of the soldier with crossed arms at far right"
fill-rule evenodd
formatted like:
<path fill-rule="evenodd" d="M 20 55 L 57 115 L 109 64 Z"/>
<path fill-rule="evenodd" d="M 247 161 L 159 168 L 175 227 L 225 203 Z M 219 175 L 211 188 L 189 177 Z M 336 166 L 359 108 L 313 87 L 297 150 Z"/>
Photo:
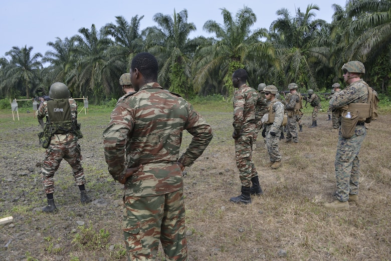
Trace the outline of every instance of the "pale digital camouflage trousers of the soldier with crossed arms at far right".
<path fill-rule="evenodd" d="M 336 197 L 339 201 L 347 201 L 349 194 L 358 194 L 360 173 L 358 152 L 365 136 L 365 126 L 356 126 L 355 133 L 349 139 L 343 138 L 339 129 L 337 153 L 334 162 L 335 178 L 337 181 Z"/>

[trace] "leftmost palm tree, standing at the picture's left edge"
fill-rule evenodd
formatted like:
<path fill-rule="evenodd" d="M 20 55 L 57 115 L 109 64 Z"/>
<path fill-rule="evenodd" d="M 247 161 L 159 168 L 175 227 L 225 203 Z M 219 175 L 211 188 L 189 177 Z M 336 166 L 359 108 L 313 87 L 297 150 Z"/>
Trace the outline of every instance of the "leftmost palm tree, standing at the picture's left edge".
<path fill-rule="evenodd" d="M 32 50 L 33 47 L 27 48 L 25 46 L 20 49 L 14 46 L 6 53 L 6 56 L 11 57 L 10 61 L 6 62 L 3 59 L 2 71 L 4 71 L 0 89 L 10 98 L 15 98 L 11 96 L 20 93 L 21 95 L 26 95 L 27 99 L 30 99 L 38 86 L 42 70 L 40 60 L 42 54 L 36 53 L 32 55 Z"/>

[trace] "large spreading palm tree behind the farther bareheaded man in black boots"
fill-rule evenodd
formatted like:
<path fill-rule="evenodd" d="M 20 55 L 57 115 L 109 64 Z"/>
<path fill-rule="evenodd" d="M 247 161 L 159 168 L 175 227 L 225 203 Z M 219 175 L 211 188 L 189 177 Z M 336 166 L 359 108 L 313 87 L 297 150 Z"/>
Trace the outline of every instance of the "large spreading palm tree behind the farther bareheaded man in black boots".
<path fill-rule="evenodd" d="M 275 53 L 271 45 L 260 41 L 266 36 L 266 29 L 250 30 L 257 21 L 252 9 L 240 9 L 235 18 L 227 9 L 222 9 L 222 15 L 224 25 L 213 20 L 204 24 L 204 30 L 215 34 L 215 38 L 211 40 L 212 44 L 200 48 L 196 53 L 194 87 L 196 91 L 201 91 L 209 79 L 220 79 L 215 91 L 230 96 L 233 93 L 232 74 L 235 70 L 246 68 L 249 75 L 255 75 L 252 73 L 258 70 L 255 63 L 274 63 Z"/>

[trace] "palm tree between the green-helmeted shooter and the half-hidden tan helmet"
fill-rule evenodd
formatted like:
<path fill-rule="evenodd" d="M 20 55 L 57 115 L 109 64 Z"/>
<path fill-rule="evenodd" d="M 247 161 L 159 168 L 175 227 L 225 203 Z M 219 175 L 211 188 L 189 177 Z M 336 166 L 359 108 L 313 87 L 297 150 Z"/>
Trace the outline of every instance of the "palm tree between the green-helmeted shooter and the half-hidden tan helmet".
<path fill-rule="evenodd" d="M 81 35 L 71 39 L 75 43 L 72 50 L 75 67 L 67 75 L 68 87 L 76 96 L 93 94 L 97 101 L 101 101 L 105 95 L 112 94 L 112 86 L 118 85 L 118 78 L 112 77 L 114 74 L 106 52 L 113 42 L 104 35 L 104 28 L 97 31 L 95 25 L 91 30 L 79 29 L 79 33 Z"/>

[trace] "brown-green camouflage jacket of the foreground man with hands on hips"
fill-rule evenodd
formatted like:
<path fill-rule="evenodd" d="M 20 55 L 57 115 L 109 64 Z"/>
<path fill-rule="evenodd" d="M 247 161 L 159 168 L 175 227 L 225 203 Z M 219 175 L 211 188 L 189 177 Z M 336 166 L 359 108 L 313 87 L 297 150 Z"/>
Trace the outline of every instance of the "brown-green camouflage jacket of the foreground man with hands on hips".
<path fill-rule="evenodd" d="M 193 138 L 179 157 L 183 130 Z M 142 164 L 127 179 L 127 194 L 153 196 L 179 190 L 183 181 L 176 161 L 191 165 L 212 137 L 211 126 L 191 104 L 158 83 L 148 83 L 118 101 L 103 132 L 104 155 L 115 180 L 126 168 Z"/>

